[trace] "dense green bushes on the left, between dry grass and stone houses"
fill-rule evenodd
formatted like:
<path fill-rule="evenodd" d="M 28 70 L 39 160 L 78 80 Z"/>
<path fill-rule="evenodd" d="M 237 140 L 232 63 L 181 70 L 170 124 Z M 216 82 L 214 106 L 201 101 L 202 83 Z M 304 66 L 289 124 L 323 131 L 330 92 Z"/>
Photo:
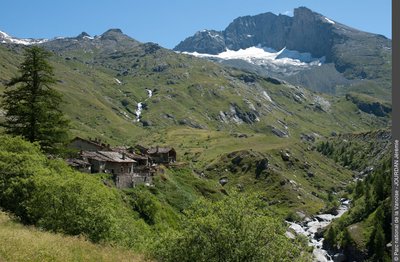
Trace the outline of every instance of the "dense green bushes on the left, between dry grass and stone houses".
<path fill-rule="evenodd" d="M 128 246 L 150 235 L 116 189 L 64 161 L 47 160 L 35 144 L 8 136 L 1 140 L 0 206 L 24 223 Z"/>

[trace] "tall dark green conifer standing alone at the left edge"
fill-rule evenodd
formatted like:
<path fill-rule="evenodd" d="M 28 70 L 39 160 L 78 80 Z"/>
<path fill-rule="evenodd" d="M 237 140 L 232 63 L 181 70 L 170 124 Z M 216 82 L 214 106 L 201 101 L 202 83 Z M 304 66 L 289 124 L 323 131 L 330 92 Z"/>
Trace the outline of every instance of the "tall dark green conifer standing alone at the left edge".
<path fill-rule="evenodd" d="M 50 86 L 56 82 L 51 54 L 37 46 L 26 49 L 19 76 L 12 78 L 2 95 L 6 132 L 30 142 L 39 142 L 43 151 L 57 152 L 68 138 L 68 121 L 60 110 L 62 96 Z"/>

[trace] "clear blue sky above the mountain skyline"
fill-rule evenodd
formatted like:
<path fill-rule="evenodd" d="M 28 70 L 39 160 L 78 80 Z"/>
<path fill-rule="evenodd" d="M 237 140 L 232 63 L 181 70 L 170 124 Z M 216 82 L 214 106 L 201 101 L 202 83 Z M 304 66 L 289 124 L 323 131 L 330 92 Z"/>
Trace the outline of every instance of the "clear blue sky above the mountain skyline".
<path fill-rule="evenodd" d="M 109 28 L 173 48 L 202 29 L 233 19 L 306 6 L 351 27 L 391 38 L 390 0 L 2 0 L 0 31 L 16 37 L 99 35 Z"/>

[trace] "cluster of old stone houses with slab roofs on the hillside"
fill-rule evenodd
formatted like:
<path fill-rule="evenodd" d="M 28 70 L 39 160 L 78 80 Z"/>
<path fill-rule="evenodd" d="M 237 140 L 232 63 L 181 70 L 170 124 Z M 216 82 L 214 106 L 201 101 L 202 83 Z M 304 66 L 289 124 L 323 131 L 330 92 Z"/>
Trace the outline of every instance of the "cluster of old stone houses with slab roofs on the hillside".
<path fill-rule="evenodd" d="M 176 151 L 172 147 L 146 148 L 111 147 L 99 139 L 74 138 L 69 148 L 78 150 L 78 157 L 67 159 L 67 163 L 85 173 L 112 174 L 117 188 L 134 187 L 152 183 L 158 165 L 176 162 Z"/>

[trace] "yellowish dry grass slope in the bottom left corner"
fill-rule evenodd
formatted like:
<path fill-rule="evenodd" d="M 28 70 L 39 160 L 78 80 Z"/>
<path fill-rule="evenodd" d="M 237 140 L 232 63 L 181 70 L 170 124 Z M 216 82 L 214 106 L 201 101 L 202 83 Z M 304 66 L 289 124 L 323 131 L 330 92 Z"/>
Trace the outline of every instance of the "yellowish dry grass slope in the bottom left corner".
<path fill-rule="evenodd" d="M 0 211 L 0 261 L 145 261 L 129 250 L 40 231 Z"/>

